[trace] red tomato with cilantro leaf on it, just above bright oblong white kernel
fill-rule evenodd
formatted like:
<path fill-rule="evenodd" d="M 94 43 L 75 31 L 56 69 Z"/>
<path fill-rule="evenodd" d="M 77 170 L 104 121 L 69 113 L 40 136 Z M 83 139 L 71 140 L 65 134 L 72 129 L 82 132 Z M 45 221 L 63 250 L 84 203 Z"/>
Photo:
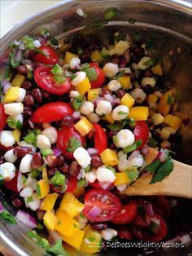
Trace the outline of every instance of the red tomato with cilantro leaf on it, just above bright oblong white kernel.
<path fill-rule="evenodd" d="M 85 147 L 85 137 L 82 137 L 74 126 L 63 126 L 58 130 L 57 148 L 59 148 L 65 157 L 73 160 L 73 152 L 68 152 L 68 143 L 72 137 L 78 139 L 82 146 Z"/>

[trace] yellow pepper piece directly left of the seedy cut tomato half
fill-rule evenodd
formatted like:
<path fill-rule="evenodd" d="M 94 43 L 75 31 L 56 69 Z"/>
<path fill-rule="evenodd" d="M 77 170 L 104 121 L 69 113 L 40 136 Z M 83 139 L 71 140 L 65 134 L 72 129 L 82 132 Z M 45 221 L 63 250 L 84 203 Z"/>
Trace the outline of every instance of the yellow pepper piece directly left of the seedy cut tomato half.
<path fill-rule="evenodd" d="M 70 217 L 75 217 L 84 209 L 84 205 L 76 199 L 72 193 L 66 193 L 60 203 L 59 209 L 63 210 Z"/>

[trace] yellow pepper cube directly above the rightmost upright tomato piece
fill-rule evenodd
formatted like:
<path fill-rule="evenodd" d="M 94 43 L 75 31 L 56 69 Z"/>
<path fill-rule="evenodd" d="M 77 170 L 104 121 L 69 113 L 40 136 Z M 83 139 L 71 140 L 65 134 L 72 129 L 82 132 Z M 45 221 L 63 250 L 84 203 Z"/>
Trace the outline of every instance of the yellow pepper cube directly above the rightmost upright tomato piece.
<path fill-rule="evenodd" d="M 128 117 L 133 118 L 135 121 L 142 121 L 142 120 L 147 120 L 148 116 L 149 116 L 148 107 L 137 106 L 137 107 L 130 108 Z"/>

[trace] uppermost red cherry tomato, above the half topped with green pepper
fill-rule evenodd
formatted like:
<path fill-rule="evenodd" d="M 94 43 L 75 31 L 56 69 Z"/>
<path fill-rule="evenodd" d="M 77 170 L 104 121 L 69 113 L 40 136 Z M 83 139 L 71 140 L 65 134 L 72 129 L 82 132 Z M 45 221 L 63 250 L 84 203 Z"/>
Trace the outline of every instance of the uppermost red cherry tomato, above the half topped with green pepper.
<path fill-rule="evenodd" d="M 40 46 L 38 49 L 43 51 L 44 54 L 38 52 L 37 55 L 35 55 L 36 62 L 41 62 L 46 65 L 59 63 L 59 55 L 57 55 L 56 51 L 51 46 Z"/>

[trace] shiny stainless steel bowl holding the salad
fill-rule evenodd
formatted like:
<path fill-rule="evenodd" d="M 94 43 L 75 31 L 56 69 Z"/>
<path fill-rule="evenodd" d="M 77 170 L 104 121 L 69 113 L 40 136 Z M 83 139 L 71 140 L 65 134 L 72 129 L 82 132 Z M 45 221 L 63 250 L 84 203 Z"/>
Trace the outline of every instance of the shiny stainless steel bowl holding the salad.
<path fill-rule="evenodd" d="M 76 9 L 82 7 L 88 14 L 86 19 L 76 14 Z M 83 30 L 83 26 L 94 20 L 103 20 L 104 12 L 109 7 L 118 7 L 118 16 L 107 26 L 94 30 Z M 129 24 L 128 20 L 137 20 L 136 24 Z M 157 36 L 157 48 L 164 56 L 167 67 L 164 86 L 172 86 L 181 92 L 181 106 L 185 113 L 192 117 L 192 8 L 190 2 L 179 0 L 154 0 L 154 1 L 118 1 L 118 0 L 66 0 L 30 16 L 24 22 L 15 26 L 1 39 L 1 54 L 6 51 L 8 42 L 19 39 L 24 34 L 36 34 L 41 28 L 49 29 L 57 38 L 63 38 L 68 34 L 97 33 L 102 40 L 106 40 L 105 34 L 111 29 L 124 27 L 130 33 L 142 31 L 148 33 L 155 31 Z M 178 51 L 181 54 L 170 57 L 168 52 Z M 171 68 L 170 68 L 171 66 Z M 181 130 L 182 143 L 177 148 L 176 158 L 185 163 L 192 161 L 192 125 L 185 126 Z M 1 200 L 7 197 L 0 194 Z M 189 201 L 191 205 L 191 201 Z M 9 205 L 8 207 L 11 206 Z M 11 209 L 12 210 L 12 209 Z M 14 211 L 14 210 L 13 210 Z M 189 223 L 191 225 L 191 223 Z M 23 229 L 19 226 L 10 226 L 1 220 L 0 223 L 0 251 L 11 256 L 45 255 L 45 251 L 30 241 Z M 153 255 L 187 255 L 190 247 L 182 250 L 160 250 Z M 112 250 L 110 255 L 120 255 L 120 250 Z M 107 253 L 107 255 L 109 255 Z M 142 254 L 140 252 L 140 254 Z M 126 255 L 122 253 L 121 255 Z M 133 255 L 137 253 L 133 252 Z"/>

